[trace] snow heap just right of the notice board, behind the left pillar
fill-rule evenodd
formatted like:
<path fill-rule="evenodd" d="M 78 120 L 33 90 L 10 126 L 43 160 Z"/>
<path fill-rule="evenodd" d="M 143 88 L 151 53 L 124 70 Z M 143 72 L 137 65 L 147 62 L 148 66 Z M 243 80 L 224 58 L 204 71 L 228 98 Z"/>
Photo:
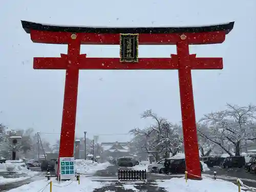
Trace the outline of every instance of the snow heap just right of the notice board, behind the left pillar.
<path fill-rule="evenodd" d="M 75 169 L 80 174 L 94 173 L 97 170 L 106 169 L 110 165 L 109 162 L 97 163 L 92 160 L 76 159 Z"/>

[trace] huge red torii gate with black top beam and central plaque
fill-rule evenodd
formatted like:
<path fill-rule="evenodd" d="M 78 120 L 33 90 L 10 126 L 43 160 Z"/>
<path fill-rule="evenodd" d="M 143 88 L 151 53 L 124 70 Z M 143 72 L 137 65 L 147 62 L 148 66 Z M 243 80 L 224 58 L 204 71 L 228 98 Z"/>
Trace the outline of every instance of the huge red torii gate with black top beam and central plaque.
<path fill-rule="evenodd" d="M 22 21 L 33 42 L 68 44 L 68 54 L 35 57 L 34 69 L 66 70 L 59 157 L 73 157 L 79 69 L 178 70 L 188 178 L 201 179 L 191 70 L 223 69 L 222 58 L 197 58 L 188 45 L 220 44 L 234 22 L 205 27 L 61 27 Z M 120 58 L 88 58 L 80 45 L 120 45 Z M 176 45 L 170 58 L 138 58 L 138 45 Z"/>

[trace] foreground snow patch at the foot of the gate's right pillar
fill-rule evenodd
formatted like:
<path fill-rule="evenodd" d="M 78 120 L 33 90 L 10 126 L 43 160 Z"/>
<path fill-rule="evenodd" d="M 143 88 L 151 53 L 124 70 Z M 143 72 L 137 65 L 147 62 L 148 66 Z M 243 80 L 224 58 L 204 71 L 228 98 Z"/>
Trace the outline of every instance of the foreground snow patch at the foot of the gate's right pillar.
<path fill-rule="evenodd" d="M 172 178 L 164 182 L 157 182 L 159 187 L 165 188 L 166 191 L 173 192 L 234 192 L 238 191 L 238 186 L 223 180 L 203 179 L 187 180 L 184 178 Z M 241 190 L 244 192 L 244 190 Z"/>

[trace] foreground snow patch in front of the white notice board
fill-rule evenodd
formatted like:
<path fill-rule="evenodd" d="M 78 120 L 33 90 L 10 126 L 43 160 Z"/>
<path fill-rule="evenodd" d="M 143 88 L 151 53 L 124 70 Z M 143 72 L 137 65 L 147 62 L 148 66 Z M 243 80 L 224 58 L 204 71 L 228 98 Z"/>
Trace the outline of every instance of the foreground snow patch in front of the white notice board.
<path fill-rule="evenodd" d="M 52 190 L 54 192 L 65 192 L 65 191 L 82 191 L 82 192 L 92 192 L 96 188 L 103 187 L 104 184 L 101 182 L 91 181 L 89 178 L 80 176 L 80 184 L 76 180 L 73 181 L 65 181 L 65 182 L 58 182 L 55 179 L 52 180 L 53 187 Z M 44 180 L 34 181 L 29 184 L 8 190 L 8 192 L 35 192 L 35 191 L 49 191 L 50 186 L 49 182 Z"/>

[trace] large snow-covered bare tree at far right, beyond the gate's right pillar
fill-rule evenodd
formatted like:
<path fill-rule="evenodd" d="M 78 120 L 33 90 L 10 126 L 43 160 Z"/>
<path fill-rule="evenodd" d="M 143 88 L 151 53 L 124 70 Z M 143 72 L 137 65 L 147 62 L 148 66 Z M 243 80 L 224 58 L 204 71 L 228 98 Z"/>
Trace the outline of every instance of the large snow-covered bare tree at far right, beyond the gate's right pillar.
<path fill-rule="evenodd" d="M 240 156 L 240 151 L 249 141 L 256 140 L 256 106 L 227 104 L 227 110 L 205 115 L 198 126 L 198 134 L 232 156 Z M 230 147 L 231 146 L 231 147 Z"/>

